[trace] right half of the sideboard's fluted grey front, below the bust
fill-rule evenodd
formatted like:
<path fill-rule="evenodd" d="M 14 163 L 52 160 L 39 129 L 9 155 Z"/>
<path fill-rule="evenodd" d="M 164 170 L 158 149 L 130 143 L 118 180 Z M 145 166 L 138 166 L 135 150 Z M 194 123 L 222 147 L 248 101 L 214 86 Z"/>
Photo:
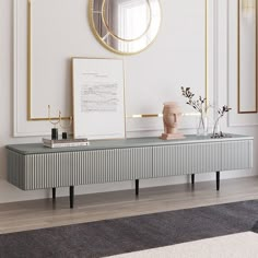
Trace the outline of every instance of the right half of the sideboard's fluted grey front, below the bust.
<path fill-rule="evenodd" d="M 251 166 L 251 140 L 153 148 L 153 177 L 244 169 Z"/>

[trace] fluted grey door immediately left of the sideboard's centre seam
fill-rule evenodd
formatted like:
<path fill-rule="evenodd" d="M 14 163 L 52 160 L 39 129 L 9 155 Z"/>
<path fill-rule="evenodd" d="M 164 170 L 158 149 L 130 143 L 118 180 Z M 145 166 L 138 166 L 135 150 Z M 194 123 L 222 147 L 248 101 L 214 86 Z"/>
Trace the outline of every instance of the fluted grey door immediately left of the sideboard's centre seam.
<path fill-rule="evenodd" d="M 80 152 L 72 159 L 73 185 L 149 178 L 152 175 L 151 148 Z"/>

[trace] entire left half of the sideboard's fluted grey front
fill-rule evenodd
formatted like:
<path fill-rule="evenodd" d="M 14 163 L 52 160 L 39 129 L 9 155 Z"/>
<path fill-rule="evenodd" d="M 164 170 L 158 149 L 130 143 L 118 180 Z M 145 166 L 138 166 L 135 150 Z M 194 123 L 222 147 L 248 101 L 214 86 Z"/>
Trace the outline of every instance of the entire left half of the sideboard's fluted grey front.
<path fill-rule="evenodd" d="M 152 176 L 152 149 L 113 149 L 26 156 L 25 188 L 122 181 Z"/>

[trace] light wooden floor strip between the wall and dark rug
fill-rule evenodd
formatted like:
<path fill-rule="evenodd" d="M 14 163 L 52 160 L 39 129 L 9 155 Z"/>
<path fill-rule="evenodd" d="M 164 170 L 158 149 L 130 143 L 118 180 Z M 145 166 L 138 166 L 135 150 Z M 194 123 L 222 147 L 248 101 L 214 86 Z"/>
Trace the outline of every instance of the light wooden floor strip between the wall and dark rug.
<path fill-rule="evenodd" d="M 69 198 L 57 198 L 0 204 L 0 234 L 60 226 L 114 218 L 131 216 L 201 206 L 258 199 L 258 177 L 196 183 L 75 197 L 74 209 Z"/>

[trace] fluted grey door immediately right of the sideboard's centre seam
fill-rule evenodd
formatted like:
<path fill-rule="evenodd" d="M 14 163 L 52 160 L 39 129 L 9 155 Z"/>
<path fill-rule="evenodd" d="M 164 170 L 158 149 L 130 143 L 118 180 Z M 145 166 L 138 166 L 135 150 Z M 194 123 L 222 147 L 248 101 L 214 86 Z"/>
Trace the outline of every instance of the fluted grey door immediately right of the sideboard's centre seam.
<path fill-rule="evenodd" d="M 220 142 L 153 148 L 153 177 L 179 176 L 220 169 Z"/>

